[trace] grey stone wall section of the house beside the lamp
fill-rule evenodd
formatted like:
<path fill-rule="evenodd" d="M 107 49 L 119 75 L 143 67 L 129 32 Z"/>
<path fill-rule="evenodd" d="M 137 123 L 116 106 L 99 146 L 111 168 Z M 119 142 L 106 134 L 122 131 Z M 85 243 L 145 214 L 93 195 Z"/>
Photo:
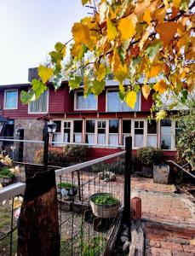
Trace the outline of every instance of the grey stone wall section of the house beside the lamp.
<path fill-rule="evenodd" d="M 43 121 L 38 121 L 37 119 L 16 119 L 14 121 L 14 128 L 17 128 L 18 125 L 21 129 L 24 129 L 25 140 L 43 141 Z M 43 148 L 43 143 L 24 143 L 23 162 L 33 163 L 35 151 L 41 148 Z"/>

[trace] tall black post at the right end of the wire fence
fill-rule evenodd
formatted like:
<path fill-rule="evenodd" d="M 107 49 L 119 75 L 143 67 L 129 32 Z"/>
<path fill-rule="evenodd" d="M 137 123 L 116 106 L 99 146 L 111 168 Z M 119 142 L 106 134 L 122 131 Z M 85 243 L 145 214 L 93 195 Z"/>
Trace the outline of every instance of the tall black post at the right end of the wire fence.
<path fill-rule="evenodd" d="M 131 174 L 131 154 L 132 154 L 132 137 L 125 139 L 125 171 L 124 171 L 124 209 L 123 220 L 130 225 L 130 174 Z"/>

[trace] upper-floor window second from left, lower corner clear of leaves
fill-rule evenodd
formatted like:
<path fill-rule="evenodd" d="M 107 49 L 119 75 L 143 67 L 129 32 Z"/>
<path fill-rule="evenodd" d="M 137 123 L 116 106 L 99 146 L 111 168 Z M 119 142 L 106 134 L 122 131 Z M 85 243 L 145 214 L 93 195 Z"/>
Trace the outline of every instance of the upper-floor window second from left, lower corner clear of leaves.
<path fill-rule="evenodd" d="M 47 113 L 48 112 L 48 90 L 35 101 L 29 104 L 29 113 Z"/>

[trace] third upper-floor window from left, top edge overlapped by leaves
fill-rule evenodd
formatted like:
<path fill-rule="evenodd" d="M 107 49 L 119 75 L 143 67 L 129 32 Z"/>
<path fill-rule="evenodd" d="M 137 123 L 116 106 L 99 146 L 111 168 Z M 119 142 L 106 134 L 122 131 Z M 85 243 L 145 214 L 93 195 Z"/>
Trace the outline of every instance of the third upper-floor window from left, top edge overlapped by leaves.
<path fill-rule="evenodd" d="M 84 97 L 82 91 L 78 91 L 75 93 L 76 95 L 76 105 L 75 110 L 85 110 L 85 109 L 91 109 L 96 110 L 97 109 L 97 99 L 95 98 L 94 94 L 89 94 L 89 96 Z"/>

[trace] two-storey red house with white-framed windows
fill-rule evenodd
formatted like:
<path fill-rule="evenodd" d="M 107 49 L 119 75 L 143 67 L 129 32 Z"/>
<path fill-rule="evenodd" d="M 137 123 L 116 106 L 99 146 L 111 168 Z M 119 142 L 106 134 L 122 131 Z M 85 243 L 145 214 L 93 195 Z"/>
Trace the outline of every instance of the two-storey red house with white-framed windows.
<path fill-rule="evenodd" d="M 97 98 L 94 95 L 84 98 L 82 87 L 69 92 L 65 81 L 57 92 L 49 84 L 49 90 L 37 101 L 24 105 L 20 101 L 20 92 L 29 87 L 30 84 L 0 86 L 0 115 L 9 119 L 4 130 L 6 137 L 13 136 L 14 129 L 20 126 L 25 130 L 26 139 L 42 139 L 43 122 L 37 118 L 49 114 L 58 125 L 53 136 L 56 146 L 88 143 L 96 145 L 96 153 L 99 150 L 100 154 L 108 154 L 123 148 L 124 138 L 131 135 L 135 150 L 154 146 L 163 148 L 169 156 L 175 154 L 175 121 L 147 120 L 152 96 L 146 101 L 138 93 L 135 108 L 131 109 L 125 102 L 120 102 L 118 84 L 112 80 L 106 81 L 106 90 Z"/>

